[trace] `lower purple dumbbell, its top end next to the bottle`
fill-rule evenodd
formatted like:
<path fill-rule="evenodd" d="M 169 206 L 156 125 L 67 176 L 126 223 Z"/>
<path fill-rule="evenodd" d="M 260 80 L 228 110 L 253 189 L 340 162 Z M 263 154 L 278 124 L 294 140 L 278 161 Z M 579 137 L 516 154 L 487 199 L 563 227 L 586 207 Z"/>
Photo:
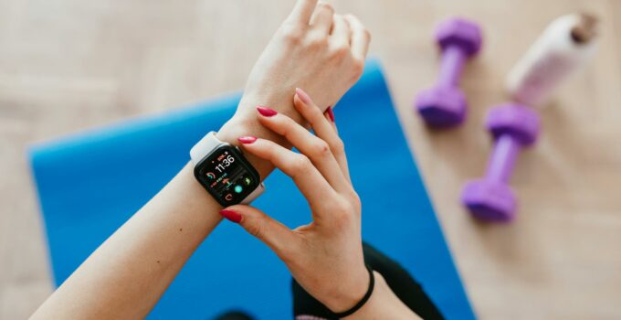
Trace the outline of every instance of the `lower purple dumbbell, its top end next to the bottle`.
<path fill-rule="evenodd" d="M 537 140 L 539 115 L 529 107 L 507 103 L 489 111 L 486 125 L 495 139 L 487 173 L 466 184 L 461 200 L 479 219 L 509 221 L 516 208 L 509 186 L 511 171 L 521 147 Z"/>

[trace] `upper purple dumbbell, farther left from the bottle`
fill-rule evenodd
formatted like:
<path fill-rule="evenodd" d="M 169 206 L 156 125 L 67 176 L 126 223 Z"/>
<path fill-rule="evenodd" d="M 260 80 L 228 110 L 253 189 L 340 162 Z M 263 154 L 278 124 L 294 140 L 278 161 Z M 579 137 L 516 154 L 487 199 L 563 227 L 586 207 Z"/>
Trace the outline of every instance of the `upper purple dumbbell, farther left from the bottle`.
<path fill-rule="evenodd" d="M 481 30 L 472 21 L 451 18 L 437 27 L 436 39 L 442 50 L 440 75 L 435 87 L 418 93 L 415 104 L 426 123 L 446 127 L 461 123 L 466 116 L 459 76 L 466 59 L 481 48 Z"/>

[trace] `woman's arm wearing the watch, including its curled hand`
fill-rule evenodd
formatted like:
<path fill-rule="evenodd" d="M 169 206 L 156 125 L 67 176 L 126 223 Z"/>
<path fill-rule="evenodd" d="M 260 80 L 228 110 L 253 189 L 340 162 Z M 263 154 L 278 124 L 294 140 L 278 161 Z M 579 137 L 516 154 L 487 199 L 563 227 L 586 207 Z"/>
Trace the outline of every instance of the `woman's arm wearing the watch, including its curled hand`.
<path fill-rule="evenodd" d="M 351 43 L 351 44 L 350 44 Z M 335 16 L 316 0 L 299 0 L 250 73 L 235 116 L 218 138 L 238 144 L 253 134 L 284 144 L 260 125 L 257 104 L 278 106 L 301 122 L 291 102 L 295 87 L 338 101 L 360 77 L 368 37 L 353 16 Z M 328 90 L 322 90 L 331 83 Z M 205 128 L 205 133 L 213 128 Z M 189 150 L 188 150 L 189 151 Z M 273 165 L 248 155 L 265 178 Z M 172 181 L 100 245 L 42 304 L 33 318 L 139 318 L 157 303 L 198 245 L 221 220 L 221 207 L 185 165 Z"/>

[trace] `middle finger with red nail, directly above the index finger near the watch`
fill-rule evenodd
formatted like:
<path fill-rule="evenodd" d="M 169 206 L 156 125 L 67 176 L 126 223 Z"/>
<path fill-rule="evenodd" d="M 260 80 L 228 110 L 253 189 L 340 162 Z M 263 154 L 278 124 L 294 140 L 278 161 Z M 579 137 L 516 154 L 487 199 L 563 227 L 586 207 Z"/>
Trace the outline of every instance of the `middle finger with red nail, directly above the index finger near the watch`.
<path fill-rule="evenodd" d="M 288 116 L 269 108 L 258 107 L 258 121 L 274 133 L 284 136 L 300 153 L 310 158 L 328 183 L 339 193 L 351 190 L 349 180 L 332 155 L 330 145 L 310 133 Z"/>

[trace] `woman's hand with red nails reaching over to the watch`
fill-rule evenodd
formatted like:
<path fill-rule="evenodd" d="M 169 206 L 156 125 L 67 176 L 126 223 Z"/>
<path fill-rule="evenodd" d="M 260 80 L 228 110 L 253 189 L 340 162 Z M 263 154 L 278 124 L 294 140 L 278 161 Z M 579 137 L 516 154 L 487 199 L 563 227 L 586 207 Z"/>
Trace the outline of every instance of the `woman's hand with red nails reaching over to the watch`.
<path fill-rule="evenodd" d="M 271 109 L 258 107 L 258 120 L 284 136 L 300 154 L 253 136 L 239 141 L 247 153 L 270 161 L 293 179 L 309 202 L 310 224 L 291 230 L 258 208 L 242 205 L 225 208 L 221 214 L 264 241 L 308 293 L 333 312 L 342 312 L 360 301 L 369 285 L 361 202 L 350 180 L 332 110 L 322 113 L 300 90 L 294 105 L 316 135 Z"/>

